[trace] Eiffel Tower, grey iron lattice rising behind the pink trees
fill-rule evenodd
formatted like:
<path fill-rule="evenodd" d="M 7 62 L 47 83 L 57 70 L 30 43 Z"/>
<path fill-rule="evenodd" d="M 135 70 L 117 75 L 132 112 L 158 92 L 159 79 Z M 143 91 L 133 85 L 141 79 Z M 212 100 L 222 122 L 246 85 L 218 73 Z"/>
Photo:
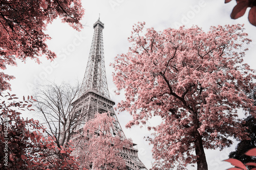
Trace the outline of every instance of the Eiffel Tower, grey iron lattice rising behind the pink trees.
<path fill-rule="evenodd" d="M 84 123 L 94 118 L 96 113 L 110 112 L 117 120 L 115 130 L 126 138 L 118 119 L 114 112 L 115 102 L 110 99 L 108 84 L 106 82 L 103 36 L 102 30 L 104 24 L 98 19 L 93 25 L 94 34 L 86 67 L 86 72 L 82 81 L 78 99 L 73 103 L 76 106 L 76 114 L 79 118 L 79 124 L 76 126 L 77 132 L 82 132 Z M 136 144 L 133 144 L 134 146 Z M 134 148 L 123 149 L 119 151 L 124 159 L 127 170 L 146 170 L 145 165 L 138 158 L 138 150 Z"/>

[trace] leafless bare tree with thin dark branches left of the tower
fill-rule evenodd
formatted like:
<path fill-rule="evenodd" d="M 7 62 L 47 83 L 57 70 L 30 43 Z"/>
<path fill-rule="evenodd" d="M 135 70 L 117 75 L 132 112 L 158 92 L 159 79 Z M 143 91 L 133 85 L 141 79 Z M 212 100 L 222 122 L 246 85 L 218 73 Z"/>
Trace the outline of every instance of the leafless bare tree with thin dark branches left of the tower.
<path fill-rule="evenodd" d="M 70 140 L 71 133 L 78 121 L 72 102 L 76 99 L 79 84 L 72 87 L 67 83 L 57 85 L 51 83 L 45 87 L 38 87 L 35 98 L 39 114 L 44 115 L 47 133 L 54 136 L 56 143 L 65 147 Z"/>

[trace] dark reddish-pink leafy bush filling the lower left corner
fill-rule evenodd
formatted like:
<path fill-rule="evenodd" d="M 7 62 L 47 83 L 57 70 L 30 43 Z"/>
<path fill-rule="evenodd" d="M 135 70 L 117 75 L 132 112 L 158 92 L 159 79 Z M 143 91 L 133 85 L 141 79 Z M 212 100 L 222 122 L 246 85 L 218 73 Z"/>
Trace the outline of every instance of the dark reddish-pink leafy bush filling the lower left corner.
<path fill-rule="evenodd" d="M 33 110 L 32 96 L 19 102 L 15 94 L 0 96 L 0 169 L 78 169 L 71 148 L 58 148 L 45 137 L 38 120 L 20 117 L 19 111 Z"/>

